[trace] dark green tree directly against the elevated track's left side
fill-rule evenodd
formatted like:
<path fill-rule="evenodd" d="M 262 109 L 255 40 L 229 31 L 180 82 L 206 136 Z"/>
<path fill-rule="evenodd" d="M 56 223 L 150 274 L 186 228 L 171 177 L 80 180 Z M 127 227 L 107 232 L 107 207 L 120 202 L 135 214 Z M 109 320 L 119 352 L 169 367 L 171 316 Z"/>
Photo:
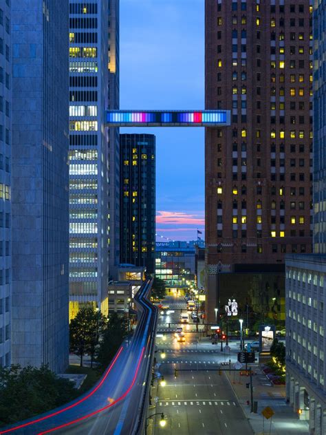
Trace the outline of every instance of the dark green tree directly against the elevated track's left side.
<path fill-rule="evenodd" d="M 109 364 L 127 334 L 127 319 L 113 312 L 103 330 L 96 357 L 102 368 Z"/>

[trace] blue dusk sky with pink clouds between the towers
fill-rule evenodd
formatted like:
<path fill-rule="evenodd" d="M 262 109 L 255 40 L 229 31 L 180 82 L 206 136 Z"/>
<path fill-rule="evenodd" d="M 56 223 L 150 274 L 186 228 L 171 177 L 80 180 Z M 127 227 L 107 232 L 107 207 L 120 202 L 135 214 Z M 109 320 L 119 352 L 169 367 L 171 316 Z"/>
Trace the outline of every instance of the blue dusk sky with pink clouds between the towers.
<path fill-rule="evenodd" d="M 120 0 L 120 108 L 204 108 L 203 0 Z M 204 129 L 121 132 L 156 135 L 157 233 L 196 238 L 204 229 Z"/>

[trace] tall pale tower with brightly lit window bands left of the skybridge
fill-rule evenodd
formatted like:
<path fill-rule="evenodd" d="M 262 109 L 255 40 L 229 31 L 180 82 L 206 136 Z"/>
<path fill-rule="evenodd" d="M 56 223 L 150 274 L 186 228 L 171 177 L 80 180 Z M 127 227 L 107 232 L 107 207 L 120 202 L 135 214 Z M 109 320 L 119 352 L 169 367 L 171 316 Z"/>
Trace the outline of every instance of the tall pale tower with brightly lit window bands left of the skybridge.
<path fill-rule="evenodd" d="M 109 259 L 118 263 L 118 133 L 105 127 L 105 109 L 118 107 L 117 20 L 116 0 L 69 2 L 70 318 L 87 302 L 107 314 Z"/>

